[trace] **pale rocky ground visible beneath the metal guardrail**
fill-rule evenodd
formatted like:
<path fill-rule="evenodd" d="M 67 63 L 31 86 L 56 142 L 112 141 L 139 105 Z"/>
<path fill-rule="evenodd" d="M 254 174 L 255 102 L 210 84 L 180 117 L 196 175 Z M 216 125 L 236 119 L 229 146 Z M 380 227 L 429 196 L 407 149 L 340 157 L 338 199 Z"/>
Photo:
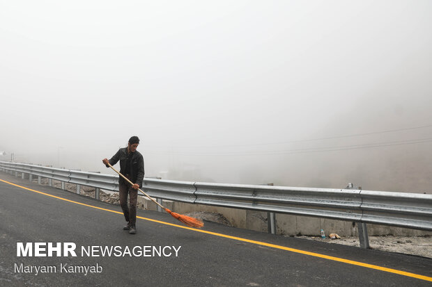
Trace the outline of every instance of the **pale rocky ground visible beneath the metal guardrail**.
<path fill-rule="evenodd" d="M 37 179 L 33 179 L 33 182 L 38 183 Z M 48 179 L 42 179 L 42 184 L 47 185 Z M 61 188 L 60 181 L 52 181 L 53 186 Z M 73 183 L 65 183 L 66 190 L 70 192 L 77 192 L 77 188 Z M 80 189 L 81 195 L 95 197 L 95 188 L 88 186 L 82 186 Z M 102 190 L 100 191 L 100 200 L 108 202 L 110 204 L 118 205 L 118 193 L 109 195 Z M 140 206 L 138 206 L 140 207 Z M 210 212 L 192 212 L 186 213 L 185 215 L 198 218 L 200 220 L 215 222 L 224 224 L 232 227 L 231 222 L 224 218 L 224 215 L 220 213 Z M 330 239 L 317 236 L 295 236 L 296 238 L 302 238 L 306 240 L 316 240 L 329 244 L 343 244 L 351 246 L 360 246 L 359 238 L 357 237 L 342 237 L 340 239 Z M 403 254 L 411 254 L 416 256 L 424 256 L 432 258 L 432 237 L 431 236 L 369 236 L 369 245 L 371 249 L 377 249 L 387 252 L 398 252 Z"/>

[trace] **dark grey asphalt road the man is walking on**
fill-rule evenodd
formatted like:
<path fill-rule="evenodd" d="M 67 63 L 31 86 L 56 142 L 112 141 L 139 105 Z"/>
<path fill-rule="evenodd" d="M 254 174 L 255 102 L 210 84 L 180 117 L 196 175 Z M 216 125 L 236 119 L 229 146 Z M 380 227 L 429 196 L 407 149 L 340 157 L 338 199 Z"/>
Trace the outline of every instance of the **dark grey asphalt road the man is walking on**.
<path fill-rule="evenodd" d="M 432 286 L 432 259 L 211 222 L 200 232 L 172 225 L 181 223 L 167 213 L 143 210 L 137 215 L 150 220 L 139 218 L 137 234 L 130 235 L 119 206 L 3 172 L 0 179 L 0 286 Z M 17 243 L 75 243 L 77 256 L 18 257 Z M 143 246 L 167 246 L 170 256 L 82 256 L 82 247 L 92 246 L 135 247 L 135 255 Z M 173 248 L 180 248 L 178 256 Z M 36 275 L 15 268 L 21 264 L 56 270 Z M 102 272 L 64 272 L 61 264 L 97 264 Z"/>

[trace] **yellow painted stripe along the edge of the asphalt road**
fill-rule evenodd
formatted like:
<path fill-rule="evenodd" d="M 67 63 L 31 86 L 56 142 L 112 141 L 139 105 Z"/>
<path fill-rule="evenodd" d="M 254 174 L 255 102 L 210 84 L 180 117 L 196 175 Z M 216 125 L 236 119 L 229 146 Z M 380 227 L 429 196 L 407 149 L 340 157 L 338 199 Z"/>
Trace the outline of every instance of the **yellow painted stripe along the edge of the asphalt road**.
<path fill-rule="evenodd" d="M 18 188 L 23 188 L 25 190 L 30 190 L 30 191 L 33 191 L 33 192 L 40 193 L 41 195 L 47 195 L 49 197 L 54 197 L 56 199 L 61 199 L 61 200 L 64 200 L 65 202 L 71 202 L 71 203 L 74 203 L 74 204 L 88 206 L 88 207 L 91 207 L 91 208 L 100 209 L 102 211 L 109 211 L 109 212 L 112 212 L 112 213 L 118 213 L 118 214 L 123 215 L 122 212 L 112 211 L 111 209 L 100 208 L 98 206 L 93 206 L 93 205 L 89 205 L 89 204 L 83 204 L 81 202 L 75 202 L 73 200 L 65 199 L 63 197 L 56 197 L 55 195 L 49 195 L 48 193 L 45 193 L 45 192 L 40 192 L 38 190 L 33 190 L 31 188 L 26 188 L 24 186 L 19 186 L 19 185 L 15 184 L 15 183 L 4 181 L 3 179 L 0 179 L 0 181 L 3 181 L 4 183 L 8 183 L 11 186 L 16 186 Z M 183 229 L 189 229 L 189 230 L 196 231 L 196 232 L 207 233 L 207 234 L 211 234 L 213 236 L 219 236 L 219 237 L 229 238 L 229 239 L 243 241 L 243 242 L 252 243 L 252 244 L 256 244 L 256 245 L 262 245 L 262 246 L 272 247 L 272 248 L 276 248 L 276 249 L 286 250 L 286 251 L 289 251 L 289 252 L 295 252 L 295 253 L 305 254 L 305 255 L 309 255 L 309 256 L 319 257 L 319 258 L 322 258 L 322 259 L 327 259 L 327 260 L 332 260 L 332 261 L 347 263 L 347 264 L 351 264 L 351 265 L 362 266 L 362 267 L 365 267 L 365 268 L 371 268 L 371 269 L 380 270 L 380 271 L 384 271 L 384 272 L 390 272 L 390 273 L 399 274 L 399 275 L 408 276 L 408 277 L 413 277 L 413 278 L 422 279 L 422 280 L 426 280 L 426 281 L 432 281 L 432 277 L 428 277 L 428 276 L 424 276 L 424 275 L 420 275 L 420 274 L 415 274 L 415 273 L 410 273 L 410 272 L 405 272 L 405 271 L 401 271 L 401 270 L 396 270 L 396 269 L 392 269 L 392 268 L 385 268 L 385 267 L 381 267 L 381 266 L 378 266 L 378 265 L 372 265 L 372 264 L 368 264 L 368 263 L 362 263 L 362 262 L 359 262 L 359 261 L 352 261 L 352 260 L 348 260 L 348 259 L 342 259 L 342 258 L 339 258 L 339 257 L 328 256 L 328 255 L 314 253 L 314 252 L 308 252 L 308 251 L 304 251 L 304 250 L 300 250 L 300 249 L 294 249 L 294 248 L 290 248 L 290 247 L 285 247 L 285 246 L 281 246 L 281 245 L 275 245 L 275 244 L 271 244 L 271 243 L 265 243 L 265 242 L 256 241 L 256 240 L 249 240 L 249 239 L 246 239 L 246 238 L 240 238 L 240 237 L 236 237 L 236 236 L 229 236 L 229 235 L 226 235 L 226 234 L 216 233 L 216 232 L 212 232 L 212 231 L 206 231 L 206 230 L 201 230 L 201 229 L 194 229 L 194 228 L 191 228 L 191 227 L 184 227 L 183 225 L 172 224 L 172 223 L 169 223 L 169 222 L 164 222 L 164 221 L 160 221 L 160 220 L 154 220 L 154 219 L 151 219 L 151 218 L 143 218 L 141 216 L 137 216 L 137 218 L 140 218 L 140 219 L 143 219 L 143 220 L 148 220 L 148 221 L 151 221 L 151 222 L 157 222 L 157 223 L 160 223 L 160 224 L 170 225 L 170 226 L 173 226 L 173 227 L 179 227 L 179 228 L 183 228 Z"/>

